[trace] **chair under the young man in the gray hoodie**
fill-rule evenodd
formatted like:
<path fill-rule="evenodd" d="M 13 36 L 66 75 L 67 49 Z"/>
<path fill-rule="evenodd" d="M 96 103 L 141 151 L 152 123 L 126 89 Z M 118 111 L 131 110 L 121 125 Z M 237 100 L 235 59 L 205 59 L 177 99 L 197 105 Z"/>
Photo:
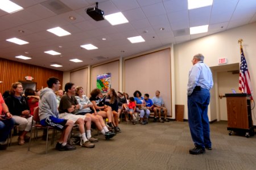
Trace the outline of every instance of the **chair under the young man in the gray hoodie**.
<path fill-rule="evenodd" d="M 46 154 L 47 154 L 48 134 L 49 134 L 48 132 L 49 132 L 49 129 L 53 129 L 52 140 L 51 140 L 51 145 L 53 145 L 54 137 L 55 137 L 55 129 L 52 126 L 42 126 L 42 125 L 40 125 L 39 107 L 35 108 L 34 116 L 32 117 L 32 120 L 34 120 L 36 123 L 34 125 L 31 124 L 30 143 L 31 143 L 31 138 L 32 138 L 32 131 L 33 131 L 34 128 L 36 129 L 36 138 L 37 138 L 37 130 L 38 130 L 38 128 L 40 128 L 40 129 L 47 129 L 47 133 L 46 133 Z M 28 145 L 28 149 L 27 149 L 28 151 L 30 151 L 30 143 Z"/>

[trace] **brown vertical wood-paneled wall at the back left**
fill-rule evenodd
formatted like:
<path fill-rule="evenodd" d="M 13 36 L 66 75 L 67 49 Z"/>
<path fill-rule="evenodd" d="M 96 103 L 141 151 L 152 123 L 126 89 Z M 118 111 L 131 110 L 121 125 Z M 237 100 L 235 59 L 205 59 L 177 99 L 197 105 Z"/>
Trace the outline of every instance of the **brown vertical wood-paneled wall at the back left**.
<path fill-rule="evenodd" d="M 60 79 L 62 86 L 63 71 L 47 69 L 44 67 L 34 66 L 26 63 L 11 61 L 0 58 L 0 92 L 10 90 L 11 84 L 18 81 L 26 82 L 25 76 L 32 76 L 34 79 L 31 82 L 36 83 L 36 88 L 41 89 L 47 87 L 47 79 L 50 76 L 55 76 Z"/>

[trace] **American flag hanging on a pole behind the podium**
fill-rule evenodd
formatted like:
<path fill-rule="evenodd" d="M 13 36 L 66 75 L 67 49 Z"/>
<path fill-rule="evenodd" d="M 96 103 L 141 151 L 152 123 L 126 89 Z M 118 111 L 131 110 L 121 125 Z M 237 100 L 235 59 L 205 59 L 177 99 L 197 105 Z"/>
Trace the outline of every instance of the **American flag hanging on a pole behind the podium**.
<path fill-rule="evenodd" d="M 251 89 L 251 80 L 250 74 L 248 71 L 247 63 L 245 60 L 245 56 L 243 55 L 243 48 L 240 47 L 241 51 L 241 64 L 240 64 L 240 76 L 239 76 L 239 90 L 242 93 L 246 93 L 247 95 L 251 95 L 251 100 L 253 100 L 252 89 Z"/>

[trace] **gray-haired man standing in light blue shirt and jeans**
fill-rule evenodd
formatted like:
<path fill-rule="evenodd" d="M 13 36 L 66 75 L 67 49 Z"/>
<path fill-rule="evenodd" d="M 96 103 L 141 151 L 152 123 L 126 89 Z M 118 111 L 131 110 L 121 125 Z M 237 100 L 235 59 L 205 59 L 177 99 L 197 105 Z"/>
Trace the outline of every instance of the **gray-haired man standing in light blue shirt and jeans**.
<path fill-rule="evenodd" d="M 213 80 L 212 72 L 205 65 L 202 54 L 196 54 L 192 63 L 187 89 L 188 124 L 195 148 L 189 150 L 189 154 L 198 155 L 204 154 L 205 148 L 212 150 L 207 111 L 210 103 L 209 90 L 213 87 Z"/>

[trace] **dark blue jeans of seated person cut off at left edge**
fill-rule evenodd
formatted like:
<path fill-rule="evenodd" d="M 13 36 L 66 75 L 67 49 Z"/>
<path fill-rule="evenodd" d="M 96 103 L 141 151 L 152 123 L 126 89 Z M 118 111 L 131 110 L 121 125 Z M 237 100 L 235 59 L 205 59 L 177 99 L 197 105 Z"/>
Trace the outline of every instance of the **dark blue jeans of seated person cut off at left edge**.
<path fill-rule="evenodd" d="M 7 118 L 6 120 L 0 120 L 0 142 L 5 142 L 8 135 L 13 129 L 15 121 L 13 118 Z"/>

